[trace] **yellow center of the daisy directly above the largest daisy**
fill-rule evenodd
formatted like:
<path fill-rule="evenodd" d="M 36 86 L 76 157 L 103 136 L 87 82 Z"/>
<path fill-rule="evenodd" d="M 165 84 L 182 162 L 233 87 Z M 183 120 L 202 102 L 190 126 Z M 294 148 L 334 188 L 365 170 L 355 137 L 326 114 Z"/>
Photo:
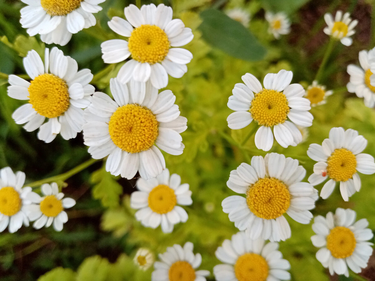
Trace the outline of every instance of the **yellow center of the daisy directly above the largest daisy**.
<path fill-rule="evenodd" d="M 160 27 L 149 24 L 133 29 L 127 45 L 133 59 L 149 64 L 162 61 L 168 54 L 169 46 L 165 32 Z"/>

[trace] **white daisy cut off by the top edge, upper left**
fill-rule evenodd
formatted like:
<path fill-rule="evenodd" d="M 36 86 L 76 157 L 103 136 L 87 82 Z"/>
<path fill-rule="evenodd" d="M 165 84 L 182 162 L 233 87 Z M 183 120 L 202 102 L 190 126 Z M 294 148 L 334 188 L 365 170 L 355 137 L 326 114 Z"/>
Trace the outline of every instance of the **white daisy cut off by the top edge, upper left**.
<path fill-rule="evenodd" d="M 72 34 L 96 24 L 93 13 L 105 0 L 21 0 L 20 23 L 30 36 L 40 34 L 47 44 L 66 45 Z"/>

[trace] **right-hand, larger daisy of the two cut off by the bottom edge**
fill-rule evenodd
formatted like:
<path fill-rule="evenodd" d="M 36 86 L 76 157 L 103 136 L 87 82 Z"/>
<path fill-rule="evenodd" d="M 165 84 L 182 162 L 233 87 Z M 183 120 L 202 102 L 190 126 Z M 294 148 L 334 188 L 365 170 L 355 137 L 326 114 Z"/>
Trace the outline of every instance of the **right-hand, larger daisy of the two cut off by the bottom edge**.
<path fill-rule="evenodd" d="M 225 239 L 215 256 L 225 264 L 215 265 L 217 281 L 280 281 L 290 280 L 290 263 L 278 251 L 279 243 L 264 244 L 263 239 L 249 239 L 245 232 Z"/>

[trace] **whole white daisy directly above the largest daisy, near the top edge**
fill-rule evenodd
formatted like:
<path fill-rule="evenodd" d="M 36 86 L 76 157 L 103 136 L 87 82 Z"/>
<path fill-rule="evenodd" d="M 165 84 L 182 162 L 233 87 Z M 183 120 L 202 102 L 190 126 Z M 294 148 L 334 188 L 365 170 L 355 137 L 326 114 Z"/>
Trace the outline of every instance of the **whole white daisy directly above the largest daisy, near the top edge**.
<path fill-rule="evenodd" d="M 106 63 L 127 61 L 118 71 L 117 78 L 127 83 L 131 78 L 161 89 L 168 84 L 168 74 L 181 78 L 187 71 L 186 64 L 193 55 L 181 47 L 193 39 L 190 28 L 180 19 L 172 19 L 172 8 L 159 4 L 143 5 L 139 10 L 130 4 L 125 10 L 126 20 L 114 16 L 109 27 L 129 39 L 113 39 L 102 43 Z"/>

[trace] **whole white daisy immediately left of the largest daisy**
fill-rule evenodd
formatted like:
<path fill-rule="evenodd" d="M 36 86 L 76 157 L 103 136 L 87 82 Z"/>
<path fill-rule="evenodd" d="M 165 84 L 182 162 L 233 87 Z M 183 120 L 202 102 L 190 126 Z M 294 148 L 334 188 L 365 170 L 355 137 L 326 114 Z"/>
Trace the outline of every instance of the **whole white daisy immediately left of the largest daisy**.
<path fill-rule="evenodd" d="M 36 51 L 28 52 L 23 63 L 31 82 L 9 75 L 8 87 L 9 97 L 28 100 L 13 112 L 15 122 L 26 123 L 24 128 L 28 132 L 39 128 L 38 138 L 46 143 L 53 141 L 58 133 L 69 140 L 82 131 L 82 108 L 90 104 L 95 91 L 89 85 L 93 78 L 89 69 L 77 71 L 77 62 L 56 47 L 50 54 L 48 51 L 45 50 L 44 65 Z"/>

